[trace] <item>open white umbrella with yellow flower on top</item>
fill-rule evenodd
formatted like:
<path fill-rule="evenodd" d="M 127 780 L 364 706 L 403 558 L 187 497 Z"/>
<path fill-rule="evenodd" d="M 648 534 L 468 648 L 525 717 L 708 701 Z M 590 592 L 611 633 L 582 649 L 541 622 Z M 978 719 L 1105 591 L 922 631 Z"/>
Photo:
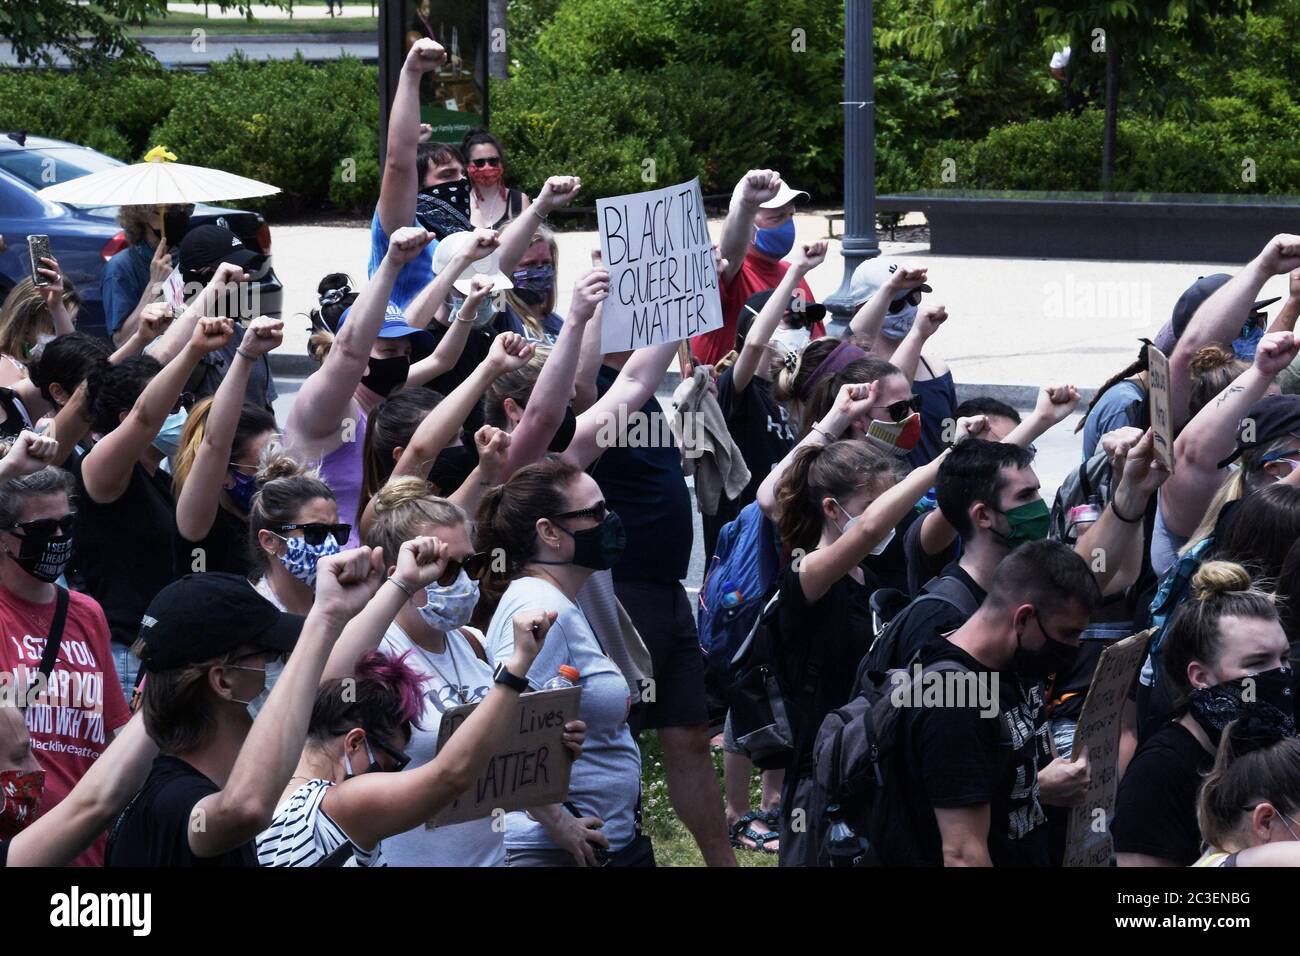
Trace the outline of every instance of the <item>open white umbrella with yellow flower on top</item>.
<path fill-rule="evenodd" d="M 278 186 L 174 160 L 165 147 L 156 146 L 144 163 L 46 186 L 36 195 L 69 206 L 185 206 L 280 193 Z"/>

